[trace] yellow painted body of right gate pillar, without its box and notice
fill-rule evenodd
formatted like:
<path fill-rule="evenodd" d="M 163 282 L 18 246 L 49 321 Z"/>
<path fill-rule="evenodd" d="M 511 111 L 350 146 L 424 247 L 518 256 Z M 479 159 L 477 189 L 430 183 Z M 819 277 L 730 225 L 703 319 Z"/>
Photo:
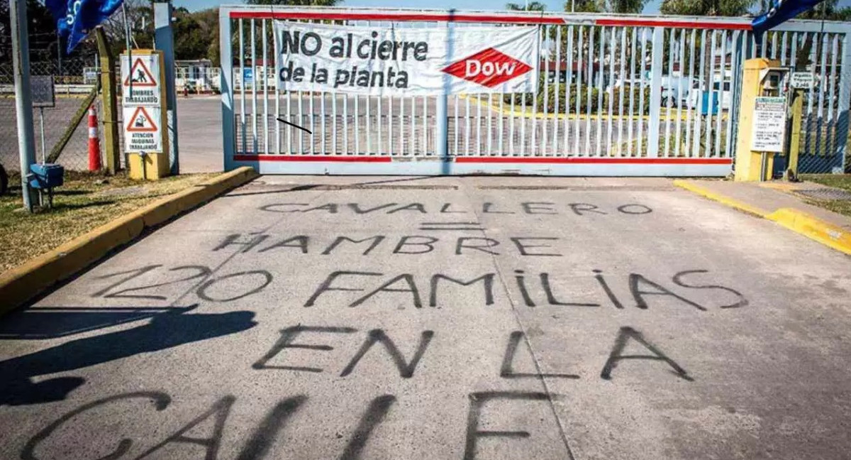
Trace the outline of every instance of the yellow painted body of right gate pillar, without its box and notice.
<path fill-rule="evenodd" d="M 764 181 L 771 178 L 771 170 L 774 167 L 774 153 L 751 150 L 753 112 L 757 96 L 768 95 L 762 89 L 762 71 L 771 67 L 780 67 L 780 61 L 764 58 L 745 60 L 739 105 L 739 135 L 736 141 L 735 181 Z M 763 153 L 768 157 L 765 169 L 767 177 L 760 177 Z"/>

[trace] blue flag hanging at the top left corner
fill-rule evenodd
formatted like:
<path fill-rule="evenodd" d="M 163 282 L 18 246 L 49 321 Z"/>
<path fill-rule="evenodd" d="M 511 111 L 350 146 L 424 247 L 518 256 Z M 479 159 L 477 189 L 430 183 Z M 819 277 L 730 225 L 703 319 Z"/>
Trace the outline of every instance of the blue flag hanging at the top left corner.
<path fill-rule="evenodd" d="M 68 43 L 67 53 L 80 43 L 94 26 L 110 17 L 124 0 L 45 0 L 56 20 L 60 37 Z"/>

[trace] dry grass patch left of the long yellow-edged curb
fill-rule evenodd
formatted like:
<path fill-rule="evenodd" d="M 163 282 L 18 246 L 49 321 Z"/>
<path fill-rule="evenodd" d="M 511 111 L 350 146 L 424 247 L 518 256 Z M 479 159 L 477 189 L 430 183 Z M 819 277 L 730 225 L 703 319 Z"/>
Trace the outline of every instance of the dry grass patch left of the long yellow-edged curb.
<path fill-rule="evenodd" d="M 0 273 L 212 176 L 179 175 L 140 182 L 124 174 L 66 171 L 65 185 L 54 193 L 54 209 L 30 214 L 23 209 L 20 175 L 11 175 L 9 193 L 0 196 Z"/>

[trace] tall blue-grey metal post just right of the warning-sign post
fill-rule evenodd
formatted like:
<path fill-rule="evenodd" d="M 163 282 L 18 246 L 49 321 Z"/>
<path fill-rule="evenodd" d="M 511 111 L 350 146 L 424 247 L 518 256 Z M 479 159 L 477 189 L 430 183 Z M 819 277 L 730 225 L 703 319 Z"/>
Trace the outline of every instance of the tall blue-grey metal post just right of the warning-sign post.
<path fill-rule="evenodd" d="M 154 3 L 154 47 L 163 51 L 165 64 L 166 118 L 168 118 L 168 164 L 171 174 L 180 174 L 180 150 L 177 139 L 177 90 L 174 88 L 174 34 L 171 28 L 171 3 Z M 226 40 L 223 41 L 227 42 Z"/>

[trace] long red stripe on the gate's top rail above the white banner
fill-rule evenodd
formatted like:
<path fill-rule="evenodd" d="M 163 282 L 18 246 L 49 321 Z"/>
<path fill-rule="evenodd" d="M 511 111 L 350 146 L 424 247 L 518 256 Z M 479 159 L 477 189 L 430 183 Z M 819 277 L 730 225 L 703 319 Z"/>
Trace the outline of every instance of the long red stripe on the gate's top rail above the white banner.
<path fill-rule="evenodd" d="M 231 19 L 278 20 L 399 20 L 447 22 L 497 22 L 508 24 L 564 24 L 559 17 L 500 16 L 474 14 L 422 14 L 422 13 L 300 13 L 296 11 L 231 11 Z"/>

